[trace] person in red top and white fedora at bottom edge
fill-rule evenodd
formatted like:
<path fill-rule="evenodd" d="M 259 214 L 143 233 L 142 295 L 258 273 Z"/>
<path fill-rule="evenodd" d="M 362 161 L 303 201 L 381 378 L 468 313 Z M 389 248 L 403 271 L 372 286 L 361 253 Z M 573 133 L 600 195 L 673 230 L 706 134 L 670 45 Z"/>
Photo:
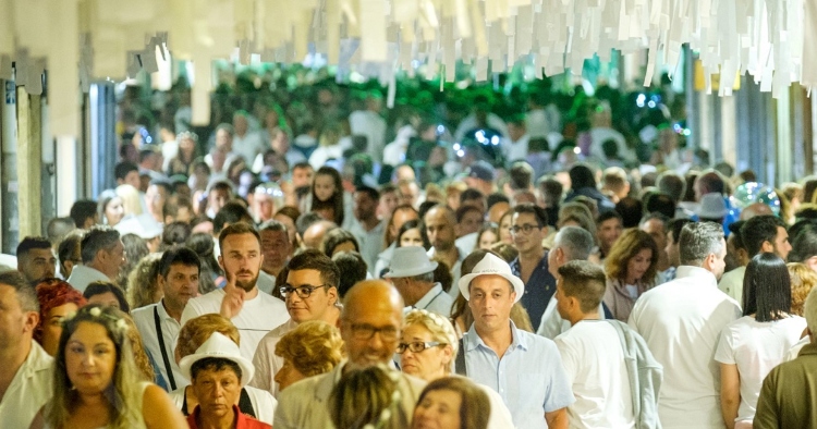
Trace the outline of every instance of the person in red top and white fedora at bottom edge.
<path fill-rule="evenodd" d="M 271 429 L 236 405 L 243 387 L 253 378 L 253 363 L 241 356 L 239 344 L 212 332 L 196 353 L 183 357 L 179 368 L 190 380 L 198 404 L 187 416 L 191 429 Z"/>

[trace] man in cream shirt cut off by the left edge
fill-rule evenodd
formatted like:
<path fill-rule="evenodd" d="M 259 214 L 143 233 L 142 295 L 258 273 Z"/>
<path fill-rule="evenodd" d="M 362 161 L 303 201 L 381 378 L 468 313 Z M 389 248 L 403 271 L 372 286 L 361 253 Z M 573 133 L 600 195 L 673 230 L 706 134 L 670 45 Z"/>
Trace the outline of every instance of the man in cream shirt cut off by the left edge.
<path fill-rule="evenodd" d="M 34 287 L 17 271 L 0 273 L 0 426 L 27 428 L 48 402 L 53 358 L 33 340 L 39 321 Z"/>

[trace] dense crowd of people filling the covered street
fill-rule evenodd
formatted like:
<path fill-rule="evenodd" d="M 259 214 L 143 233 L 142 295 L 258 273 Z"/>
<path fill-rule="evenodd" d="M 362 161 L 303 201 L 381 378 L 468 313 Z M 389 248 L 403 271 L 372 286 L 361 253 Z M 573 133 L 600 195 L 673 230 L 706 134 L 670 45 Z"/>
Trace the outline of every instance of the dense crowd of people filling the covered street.
<path fill-rule="evenodd" d="M 124 121 L 117 188 L 0 272 L 0 427 L 817 424 L 817 179 L 741 210 L 751 172 L 609 100 L 478 99 L 449 146 L 334 95 Z"/>

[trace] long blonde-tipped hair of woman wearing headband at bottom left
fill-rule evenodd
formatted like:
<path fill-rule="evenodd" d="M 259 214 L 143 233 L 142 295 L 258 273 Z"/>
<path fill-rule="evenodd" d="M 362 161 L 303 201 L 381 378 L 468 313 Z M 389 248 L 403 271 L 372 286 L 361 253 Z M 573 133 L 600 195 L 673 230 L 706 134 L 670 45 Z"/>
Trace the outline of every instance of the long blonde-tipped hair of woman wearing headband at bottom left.
<path fill-rule="evenodd" d="M 76 332 L 80 323 L 96 323 L 105 328 L 108 338 L 115 348 L 115 365 L 110 385 L 105 388 L 103 397 L 107 399 L 110 422 L 106 428 L 130 429 L 137 426 L 142 419 L 142 409 L 134 404 L 142 403 L 143 390 L 139 385 L 138 369 L 133 360 L 131 342 L 127 335 L 131 329 L 125 320 L 125 314 L 113 306 L 87 305 L 75 316 L 63 322 L 60 345 L 54 356 L 53 397 L 46 406 L 45 419 L 48 426 L 61 428 L 76 410 L 80 401 L 78 393 L 65 365 L 65 347 L 71 335 Z"/>

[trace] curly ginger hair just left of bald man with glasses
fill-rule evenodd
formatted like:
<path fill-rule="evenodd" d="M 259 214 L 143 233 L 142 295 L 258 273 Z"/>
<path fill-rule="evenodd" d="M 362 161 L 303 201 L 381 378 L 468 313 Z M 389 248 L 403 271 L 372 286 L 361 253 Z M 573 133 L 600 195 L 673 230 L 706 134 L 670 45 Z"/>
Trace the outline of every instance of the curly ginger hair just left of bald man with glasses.
<path fill-rule="evenodd" d="M 331 324 L 312 320 L 281 336 L 276 355 L 292 363 L 305 377 L 329 372 L 343 359 L 343 340 Z"/>

